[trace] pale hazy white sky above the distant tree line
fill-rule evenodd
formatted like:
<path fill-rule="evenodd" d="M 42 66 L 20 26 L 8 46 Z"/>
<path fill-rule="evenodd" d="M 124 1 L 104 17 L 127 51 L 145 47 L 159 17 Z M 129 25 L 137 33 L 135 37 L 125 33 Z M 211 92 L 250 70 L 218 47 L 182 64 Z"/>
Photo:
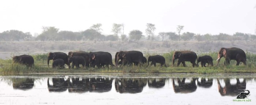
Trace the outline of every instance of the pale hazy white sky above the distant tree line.
<path fill-rule="evenodd" d="M 60 31 L 84 31 L 102 24 L 104 35 L 112 34 L 112 24 L 125 24 L 125 34 L 133 29 L 145 33 L 146 24 L 158 32 L 212 35 L 235 32 L 255 34 L 256 0 L 1 0 L 0 32 L 16 29 L 41 33 L 42 26 Z"/>

